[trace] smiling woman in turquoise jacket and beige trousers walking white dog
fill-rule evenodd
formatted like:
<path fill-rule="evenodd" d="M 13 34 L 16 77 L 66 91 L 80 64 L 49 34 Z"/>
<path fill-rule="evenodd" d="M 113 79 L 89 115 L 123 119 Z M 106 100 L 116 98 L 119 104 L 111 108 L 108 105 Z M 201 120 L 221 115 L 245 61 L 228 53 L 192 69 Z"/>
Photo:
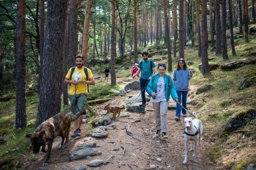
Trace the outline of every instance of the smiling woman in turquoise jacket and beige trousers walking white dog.
<path fill-rule="evenodd" d="M 166 135 L 167 109 L 170 95 L 175 102 L 178 101 L 178 96 L 171 80 L 171 76 L 165 74 L 165 70 L 165 64 L 158 64 L 158 73 L 153 75 L 147 87 L 147 92 L 151 96 L 150 102 L 153 103 L 155 109 L 156 134 L 154 134 L 154 136 L 159 136 L 161 130 L 163 139 L 168 138 Z"/>

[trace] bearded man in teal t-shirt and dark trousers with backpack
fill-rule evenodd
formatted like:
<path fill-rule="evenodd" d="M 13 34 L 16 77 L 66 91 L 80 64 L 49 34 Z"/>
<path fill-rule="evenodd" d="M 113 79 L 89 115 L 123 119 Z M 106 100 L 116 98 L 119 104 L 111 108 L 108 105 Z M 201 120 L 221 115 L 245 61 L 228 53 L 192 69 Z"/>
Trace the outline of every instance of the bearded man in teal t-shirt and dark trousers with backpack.
<path fill-rule="evenodd" d="M 140 62 L 138 71 L 133 75 L 133 79 L 142 71 L 140 75 L 140 91 L 142 95 L 142 104 L 140 106 L 146 106 L 146 86 L 148 86 L 148 82 L 151 79 L 152 75 L 155 74 L 155 63 L 150 61 L 148 58 L 148 52 L 142 52 L 143 62 Z"/>

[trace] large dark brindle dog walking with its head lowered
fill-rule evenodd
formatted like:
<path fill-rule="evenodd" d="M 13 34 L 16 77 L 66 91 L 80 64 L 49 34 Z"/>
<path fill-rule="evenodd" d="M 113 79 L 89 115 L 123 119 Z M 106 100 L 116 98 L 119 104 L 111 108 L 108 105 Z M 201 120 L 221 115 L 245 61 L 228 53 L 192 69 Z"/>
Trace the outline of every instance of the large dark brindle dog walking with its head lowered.
<path fill-rule="evenodd" d="M 33 133 L 29 133 L 26 137 L 30 138 L 33 153 L 38 153 L 40 147 L 41 151 L 47 152 L 46 159 L 43 166 L 47 166 L 50 159 L 50 152 L 52 150 L 53 139 L 56 136 L 62 137 L 59 148 L 65 149 L 69 141 L 69 131 L 71 128 L 71 122 L 79 118 L 80 115 L 86 114 L 86 112 L 78 112 L 75 115 L 70 115 L 68 113 L 58 113 L 52 118 L 44 121 L 40 124 Z M 65 144 L 64 140 L 66 138 Z M 47 150 L 45 149 L 47 145 Z"/>

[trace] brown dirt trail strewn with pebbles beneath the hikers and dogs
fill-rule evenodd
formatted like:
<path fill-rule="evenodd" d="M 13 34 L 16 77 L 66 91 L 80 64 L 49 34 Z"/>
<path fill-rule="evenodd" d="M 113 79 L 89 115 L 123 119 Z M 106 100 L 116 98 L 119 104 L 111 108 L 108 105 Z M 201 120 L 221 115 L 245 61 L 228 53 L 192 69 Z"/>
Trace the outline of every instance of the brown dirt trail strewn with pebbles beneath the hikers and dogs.
<path fill-rule="evenodd" d="M 138 94 L 139 91 L 132 91 L 130 94 Z M 129 95 L 130 95 L 129 94 Z M 119 101 L 123 101 L 123 97 L 117 97 L 111 103 L 120 104 Z M 173 101 L 171 101 L 173 102 Z M 94 107 L 102 107 L 97 105 Z M 188 105 L 188 109 L 192 109 L 192 106 Z M 102 109 L 101 113 L 105 113 Z M 124 113 L 126 111 L 122 111 Z M 98 113 L 98 114 L 101 114 Z M 114 157 L 109 161 L 110 163 L 101 165 L 99 167 L 89 167 L 88 170 L 149 170 L 151 167 L 156 167 L 155 169 L 166 169 L 166 170 L 214 170 L 218 169 L 217 166 L 210 161 L 207 157 L 205 151 L 209 145 L 208 141 L 204 140 L 202 137 L 201 147 L 197 147 L 197 157 L 201 159 L 202 164 L 192 163 L 190 159 L 192 158 L 192 152 L 188 152 L 188 163 L 187 165 L 182 165 L 184 159 L 184 124 L 180 121 L 174 120 L 175 110 L 168 110 L 168 139 L 162 140 L 160 137 L 153 138 L 155 133 L 155 118 L 153 105 L 149 103 L 146 106 L 145 113 L 130 113 L 130 117 L 117 118 L 112 120 L 112 124 L 116 124 L 116 129 L 108 130 L 108 137 L 104 139 L 85 137 L 85 129 L 89 124 L 82 125 L 82 136 L 71 138 L 68 147 L 65 150 L 60 150 L 58 148 L 60 143 L 60 138 L 54 140 L 52 157 L 50 158 L 49 165 L 47 168 L 49 170 L 73 170 L 76 166 L 86 165 L 93 159 L 102 159 L 103 162 L 107 160 L 111 155 Z M 135 120 L 140 120 L 139 122 L 132 123 Z M 89 122 L 90 123 L 90 122 Z M 131 129 L 135 135 L 139 136 L 144 142 L 139 142 L 127 135 L 125 125 L 127 123 L 131 124 Z M 73 131 L 73 130 L 72 130 Z M 78 146 L 83 143 L 96 142 L 97 151 L 101 151 L 101 155 L 96 155 L 91 157 L 91 159 L 81 159 L 71 162 L 69 160 L 69 155 L 71 152 L 78 150 Z M 190 148 L 190 143 L 188 147 Z M 198 144 L 197 144 L 198 146 Z M 123 149 L 125 148 L 124 156 Z M 37 169 L 43 164 L 44 153 L 40 152 L 36 155 L 37 160 L 34 162 L 27 162 L 23 167 L 24 170 Z M 160 158 L 160 159 L 158 159 Z M 154 168 L 151 168 L 154 169 Z"/>

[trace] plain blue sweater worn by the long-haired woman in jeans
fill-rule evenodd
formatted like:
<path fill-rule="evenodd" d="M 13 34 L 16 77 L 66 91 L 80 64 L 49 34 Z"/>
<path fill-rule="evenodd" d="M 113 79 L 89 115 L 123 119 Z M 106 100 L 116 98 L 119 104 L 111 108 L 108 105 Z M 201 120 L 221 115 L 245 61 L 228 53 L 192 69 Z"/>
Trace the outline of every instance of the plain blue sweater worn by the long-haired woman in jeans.
<path fill-rule="evenodd" d="M 172 79 L 175 80 L 176 91 L 188 91 L 188 80 L 190 80 L 190 71 L 188 69 L 175 69 Z"/>

